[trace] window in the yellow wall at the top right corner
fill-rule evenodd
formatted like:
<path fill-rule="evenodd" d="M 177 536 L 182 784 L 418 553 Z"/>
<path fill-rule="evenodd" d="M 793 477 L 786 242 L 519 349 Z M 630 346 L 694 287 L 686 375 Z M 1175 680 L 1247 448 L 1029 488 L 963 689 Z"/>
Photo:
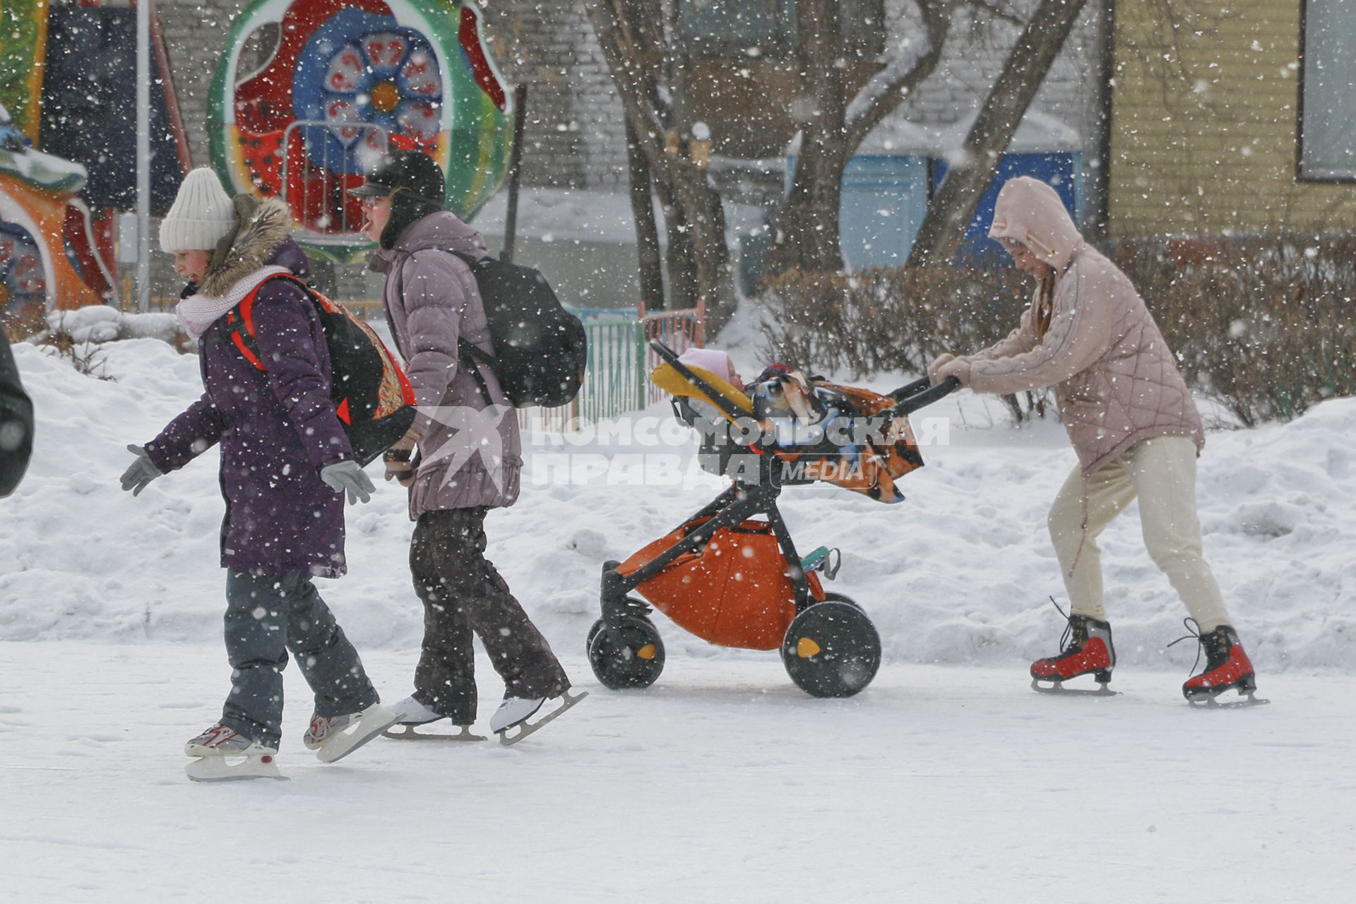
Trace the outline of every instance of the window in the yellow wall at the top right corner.
<path fill-rule="evenodd" d="M 1356 179 L 1356 0 L 1307 0 L 1299 178 Z"/>

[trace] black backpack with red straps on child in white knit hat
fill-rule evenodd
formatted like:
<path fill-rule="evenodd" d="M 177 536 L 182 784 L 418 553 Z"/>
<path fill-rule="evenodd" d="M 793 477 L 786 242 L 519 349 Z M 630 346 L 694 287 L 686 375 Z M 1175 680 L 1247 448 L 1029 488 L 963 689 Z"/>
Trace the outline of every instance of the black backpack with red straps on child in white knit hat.
<path fill-rule="evenodd" d="M 259 289 L 285 279 L 316 305 L 330 350 L 330 398 L 353 446 L 353 457 L 367 465 L 400 439 L 415 420 L 415 392 L 405 371 L 372 327 L 287 274 L 259 283 L 226 313 L 231 342 L 259 370 L 267 370 L 255 342 L 254 300 Z"/>

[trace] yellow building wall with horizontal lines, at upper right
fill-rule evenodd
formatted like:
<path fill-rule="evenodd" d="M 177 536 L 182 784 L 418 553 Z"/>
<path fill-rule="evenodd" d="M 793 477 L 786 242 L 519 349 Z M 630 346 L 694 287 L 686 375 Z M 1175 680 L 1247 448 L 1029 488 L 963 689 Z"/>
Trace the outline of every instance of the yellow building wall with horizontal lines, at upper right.
<path fill-rule="evenodd" d="M 1296 179 L 1300 12 L 1302 0 L 1116 4 L 1115 234 L 1356 225 L 1356 184 Z"/>

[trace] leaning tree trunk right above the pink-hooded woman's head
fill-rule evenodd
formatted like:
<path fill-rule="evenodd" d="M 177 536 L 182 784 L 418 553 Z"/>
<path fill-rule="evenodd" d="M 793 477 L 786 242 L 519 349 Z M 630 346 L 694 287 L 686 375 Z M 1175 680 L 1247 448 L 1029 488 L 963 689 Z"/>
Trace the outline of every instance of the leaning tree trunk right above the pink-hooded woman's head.
<path fill-rule="evenodd" d="M 909 266 L 949 264 L 965 237 L 979 199 L 998 172 L 1026 107 L 1035 99 L 1045 73 L 1059 56 L 1086 0 L 1041 0 L 1026 28 L 1017 38 L 1002 75 L 979 110 L 965 136 L 963 160 L 952 164 L 941 188 L 928 202 L 918 237 L 909 253 Z"/>

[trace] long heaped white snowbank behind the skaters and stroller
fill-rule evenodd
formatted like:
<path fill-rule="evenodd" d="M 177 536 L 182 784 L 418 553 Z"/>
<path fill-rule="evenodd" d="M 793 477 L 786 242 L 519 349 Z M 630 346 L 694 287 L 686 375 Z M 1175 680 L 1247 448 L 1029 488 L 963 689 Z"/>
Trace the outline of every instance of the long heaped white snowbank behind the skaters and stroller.
<path fill-rule="evenodd" d="M 216 638 L 216 453 L 140 497 L 118 488 L 132 459 L 125 446 L 151 439 L 201 392 L 197 358 L 155 340 L 115 343 L 102 350 L 103 373 L 117 379 L 107 382 L 49 350 L 19 344 L 15 354 L 38 428 L 27 478 L 0 501 L 0 638 Z M 650 413 L 662 423 L 666 407 Z M 892 660 L 1016 667 L 1050 653 L 1062 623 L 1047 596 L 1063 602 L 1063 587 L 1044 518 L 1074 466 L 1063 430 L 1012 430 L 968 393 L 922 416 L 937 420 L 915 416 L 915 427 L 949 442 L 925 447 L 928 468 L 903 485 L 909 499 L 881 506 L 829 487 L 788 489 L 782 510 L 797 543 L 842 549 L 834 588 L 866 607 Z M 1356 660 L 1352 435 L 1356 400 L 1342 398 L 1291 424 L 1215 432 L 1201 458 L 1205 553 L 1262 668 L 1351 671 Z M 624 465 L 640 453 L 686 455 L 690 443 L 656 450 L 605 439 L 532 438 L 521 501 L 488 522 L 490 557 L 551 641 L 571 652 L 597 617 L 601 564 L 670 530 L 720 488 L 690 474 L 628 485 L 635 473 Z M 597 470 L 591 482 L 548 482 L 563 454 Z M 422 630 L 405 564 L 411 523 L 403 493 L 376 466 L 370 473 L 377 496 L 348 510 L 350 575 L 321 581 L 321 592 L 359 646 L 407 649 Z M 1163 651 L 1185 611 L 1143 552 L 1134 508 L 1101 545 L 1121 663 L 1185 672 L 1193 645 Z M 658 621 L 671 655 L 738 656 Z"/>

